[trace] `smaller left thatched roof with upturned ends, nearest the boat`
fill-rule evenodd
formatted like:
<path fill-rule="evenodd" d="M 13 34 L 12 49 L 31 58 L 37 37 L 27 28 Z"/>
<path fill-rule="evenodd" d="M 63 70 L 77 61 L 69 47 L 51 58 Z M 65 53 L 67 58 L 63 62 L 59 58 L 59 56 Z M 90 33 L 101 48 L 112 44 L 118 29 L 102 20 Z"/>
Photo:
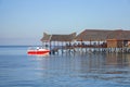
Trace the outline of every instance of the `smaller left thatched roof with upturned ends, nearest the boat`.
<path fill-rule="evenodd" d="M 43 33 L 41 41 L 73 41 L 76 37 L 76 33 L 69 35 L 49 35 Z"/>

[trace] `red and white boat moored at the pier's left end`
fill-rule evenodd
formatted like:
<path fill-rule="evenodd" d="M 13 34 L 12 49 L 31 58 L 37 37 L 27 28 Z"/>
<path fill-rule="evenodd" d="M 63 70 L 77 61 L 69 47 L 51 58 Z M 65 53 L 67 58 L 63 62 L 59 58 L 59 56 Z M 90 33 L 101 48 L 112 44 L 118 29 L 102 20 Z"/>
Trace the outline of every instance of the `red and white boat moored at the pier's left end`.
<path fill-rule="evenodd" d="M 50 50 L 37 47 L 37 49 L 32 49 L 32 48 L 28 49 L 27 53 L 28 54 L 49 54 Z"/>

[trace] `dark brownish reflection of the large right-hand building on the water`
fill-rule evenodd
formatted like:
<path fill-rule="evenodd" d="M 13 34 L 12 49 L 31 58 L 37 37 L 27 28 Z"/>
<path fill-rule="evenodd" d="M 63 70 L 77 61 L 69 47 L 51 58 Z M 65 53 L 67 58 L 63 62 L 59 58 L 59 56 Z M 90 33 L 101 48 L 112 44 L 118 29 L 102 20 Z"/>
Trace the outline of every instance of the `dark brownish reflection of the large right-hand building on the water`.
<path fill-rule="evenodd" d="M 112 80 L 116 83 L 130 82 L 130 54 L 99 53 L 80 59 L 80 77 L 87 79 Z M 129 84 L 130 85 L 130 84 Z"/>

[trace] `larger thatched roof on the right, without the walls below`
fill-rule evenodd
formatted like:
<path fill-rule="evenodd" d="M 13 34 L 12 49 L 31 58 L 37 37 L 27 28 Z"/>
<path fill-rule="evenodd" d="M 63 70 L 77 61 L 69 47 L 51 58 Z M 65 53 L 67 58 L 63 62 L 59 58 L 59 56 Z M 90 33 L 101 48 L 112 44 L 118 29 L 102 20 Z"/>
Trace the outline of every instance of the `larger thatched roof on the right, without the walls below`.
<path fill-rule="evenodd" d="M 77 40 L 82 41 L 104 41 L 107 39 L 130 40 L 130 30 L 102 30 L 102 29 L 86 29 L 80 33 Z"/>

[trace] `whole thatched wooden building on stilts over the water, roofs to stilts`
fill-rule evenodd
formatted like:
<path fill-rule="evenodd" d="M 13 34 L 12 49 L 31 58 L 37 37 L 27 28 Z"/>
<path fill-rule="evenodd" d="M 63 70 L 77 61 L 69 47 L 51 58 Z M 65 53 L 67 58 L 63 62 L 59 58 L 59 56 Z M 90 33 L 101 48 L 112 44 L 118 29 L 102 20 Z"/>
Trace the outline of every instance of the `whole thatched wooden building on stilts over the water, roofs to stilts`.
<path fill-rule="evenodd" d="M 66 52 L 125 52 L 130 53 L 130 30 L 86 29 L 76 36 L 49 35 L 43 33 L 43 46 L 49 46 L 51 53 Z"/>

